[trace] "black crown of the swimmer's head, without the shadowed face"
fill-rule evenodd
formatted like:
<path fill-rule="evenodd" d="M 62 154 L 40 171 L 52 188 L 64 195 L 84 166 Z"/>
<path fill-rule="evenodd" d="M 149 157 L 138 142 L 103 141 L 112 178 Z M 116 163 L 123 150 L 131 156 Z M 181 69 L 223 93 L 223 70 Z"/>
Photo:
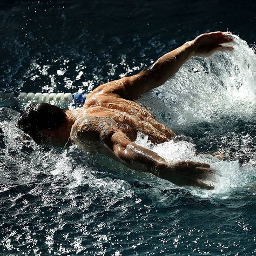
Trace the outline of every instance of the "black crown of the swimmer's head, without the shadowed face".
<path fill-rule="evenodd" d="M 55 130 L 65 123 L 65 111 L 57 106 L 30 104 L 18 118 L 17 127 L 28 133 L 36 143 L 42 143 L 42 130 Z"/>

